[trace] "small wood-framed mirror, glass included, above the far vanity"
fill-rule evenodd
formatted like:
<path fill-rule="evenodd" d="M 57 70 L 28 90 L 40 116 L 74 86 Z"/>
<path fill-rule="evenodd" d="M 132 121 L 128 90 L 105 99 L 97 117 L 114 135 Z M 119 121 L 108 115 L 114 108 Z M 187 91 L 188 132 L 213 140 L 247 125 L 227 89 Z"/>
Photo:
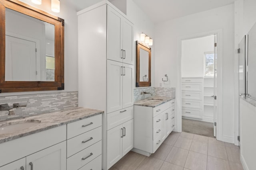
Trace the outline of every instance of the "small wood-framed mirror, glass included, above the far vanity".
<path fill-rule="evenodd" d="M 136 41 L 136 87 L 151 86 L 151 48 Z"/>

